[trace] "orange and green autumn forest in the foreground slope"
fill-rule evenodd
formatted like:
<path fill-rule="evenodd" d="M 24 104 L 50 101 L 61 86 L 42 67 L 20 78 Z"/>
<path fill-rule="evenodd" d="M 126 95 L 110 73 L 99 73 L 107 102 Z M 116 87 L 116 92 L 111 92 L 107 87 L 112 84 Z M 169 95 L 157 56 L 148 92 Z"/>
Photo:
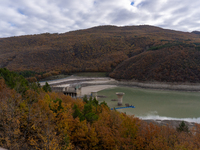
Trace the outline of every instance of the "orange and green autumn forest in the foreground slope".
<path fill-rule="evenodd" d="M 174 129 L 110 110 L 96 99 L 50 92 L 0 69 L 0 147 L 10 150 L 200 149 L 200 125 Z M 45 90 L 46 89 L 46 90 Z"/>

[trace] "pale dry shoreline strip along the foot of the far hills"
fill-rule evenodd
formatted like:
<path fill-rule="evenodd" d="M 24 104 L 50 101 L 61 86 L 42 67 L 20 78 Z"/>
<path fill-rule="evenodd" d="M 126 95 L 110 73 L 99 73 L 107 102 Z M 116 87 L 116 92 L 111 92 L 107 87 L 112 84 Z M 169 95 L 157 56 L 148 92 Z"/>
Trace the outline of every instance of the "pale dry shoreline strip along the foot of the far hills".
<path fill-rule="evenodd" d="M 44 82 L 40 82 L 44 85 Z M 81 84 L 82 87 L 91 85 L 115 85 L 129 86 L 159 90 L 175 90 L 175 91 L 200 91 L 200 83 L 167 83 L 167 82 L 139 82 L 139 81 L 117 81 L 109 77 L 77 77 L 70 76 L 64 79 L 48 81 L 50 85 L 63 84 Z"/>

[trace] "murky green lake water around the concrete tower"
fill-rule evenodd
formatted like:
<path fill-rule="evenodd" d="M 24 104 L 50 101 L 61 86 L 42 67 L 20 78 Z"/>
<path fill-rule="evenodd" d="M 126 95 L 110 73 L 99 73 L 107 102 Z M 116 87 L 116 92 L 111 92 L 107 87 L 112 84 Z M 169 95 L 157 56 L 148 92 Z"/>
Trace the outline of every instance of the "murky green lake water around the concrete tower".
<path fill-rule="evenodd" d="M 129 115 L 141 118 L 182 118 L 200 120 L 200 92 L 179 92 L 166 90 L 141 89 L 133 87 L 115 87 L 98 92 L 107 98 L 101 98 L 110 108 L 119 107 L 116 92 L 124 92 L 123 106 L 126 103 L 135 108 L 118 109 Z"/>

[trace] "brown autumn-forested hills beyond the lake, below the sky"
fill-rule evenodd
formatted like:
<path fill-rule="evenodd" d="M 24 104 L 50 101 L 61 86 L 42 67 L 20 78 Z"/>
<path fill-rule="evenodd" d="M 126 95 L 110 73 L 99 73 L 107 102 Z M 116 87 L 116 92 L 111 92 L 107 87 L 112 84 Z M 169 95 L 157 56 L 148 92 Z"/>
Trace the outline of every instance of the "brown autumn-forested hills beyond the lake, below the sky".
<path fill-rule="evenodd" d="M 98 26 L 63 34 L 0 38 L 0 68 L 36 81 L 73 72 L 116 79 L 199 82 L 200 35 L 154 26 Z"/>

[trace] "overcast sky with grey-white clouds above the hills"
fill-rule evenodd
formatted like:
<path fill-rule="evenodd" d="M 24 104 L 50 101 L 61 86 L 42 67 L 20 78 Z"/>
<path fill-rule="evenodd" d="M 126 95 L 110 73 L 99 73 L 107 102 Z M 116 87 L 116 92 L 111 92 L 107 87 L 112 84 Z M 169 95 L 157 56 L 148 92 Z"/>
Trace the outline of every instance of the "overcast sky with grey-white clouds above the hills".
<path fill-rule="evenodd" d="M 0 37 L 144 24 L 200 31 L 200 0 L 0 0 Z"/>

